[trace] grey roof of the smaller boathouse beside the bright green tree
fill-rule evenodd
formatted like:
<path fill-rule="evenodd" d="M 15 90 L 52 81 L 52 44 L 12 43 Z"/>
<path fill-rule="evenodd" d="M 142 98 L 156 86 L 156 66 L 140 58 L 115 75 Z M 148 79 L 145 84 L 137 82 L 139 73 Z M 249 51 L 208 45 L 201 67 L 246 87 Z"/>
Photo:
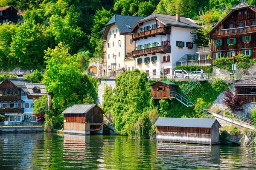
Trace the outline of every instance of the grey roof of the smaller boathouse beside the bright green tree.
<path fill-rule="evenodd" d="M 68 108 L 66 108 L 65 111 L 62 112 L 62 114 L 64 114 L 64 113 L 87 113 L 94 106 L 99 107 L 96 104 L 90 104 L 90 105 L 70 105 Z"/>

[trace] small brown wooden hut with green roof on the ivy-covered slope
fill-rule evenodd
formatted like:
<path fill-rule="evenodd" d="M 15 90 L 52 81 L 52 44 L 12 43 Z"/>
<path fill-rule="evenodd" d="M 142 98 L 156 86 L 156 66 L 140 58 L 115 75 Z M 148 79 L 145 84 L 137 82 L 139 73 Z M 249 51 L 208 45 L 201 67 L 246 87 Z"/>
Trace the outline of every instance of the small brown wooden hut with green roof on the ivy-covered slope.
<path fill-rule="evenodd" d="M 152 84 L 151 92 L 153 99 L 168 99 L 172 97 L 170 92 L 177 91 L 177 84 L 167 81 L 157 81 Z"/>

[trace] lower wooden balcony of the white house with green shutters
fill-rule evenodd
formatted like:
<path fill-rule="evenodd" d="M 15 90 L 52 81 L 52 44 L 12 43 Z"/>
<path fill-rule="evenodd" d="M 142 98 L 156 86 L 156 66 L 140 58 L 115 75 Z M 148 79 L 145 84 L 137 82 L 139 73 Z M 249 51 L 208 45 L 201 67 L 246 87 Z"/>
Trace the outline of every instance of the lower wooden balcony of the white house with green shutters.
<path fill-rule="evenodd" d="M 144 55 L 147 56 L 147 54 L 156 54 L 156 53 L 170 53 L 171 52 L 171 46 L 170 45 L 160 45 L 156 47 L 151 47 L 151 48 L 145 48 L 145 49 L 140 49 L 140 50 L 134 50 L 132 51 L 132 55 L 135 57 Z"/>

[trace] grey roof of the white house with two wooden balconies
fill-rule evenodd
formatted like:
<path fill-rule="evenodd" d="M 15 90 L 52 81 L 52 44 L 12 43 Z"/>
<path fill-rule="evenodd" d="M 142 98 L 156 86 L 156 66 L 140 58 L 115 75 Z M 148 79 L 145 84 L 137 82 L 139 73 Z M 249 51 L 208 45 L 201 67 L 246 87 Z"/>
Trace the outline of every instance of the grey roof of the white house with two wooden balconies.
<path fill-rule="evenodd" d="M 153 18 L 157 18 L 160 22 L 162 22 L 166 26 L 175 26 L 175 27 L 183 27 L 183 28 L 201 28 L 198 26 L 195 21 L 191 20 L 187 17 L 180 17 L 180 21 L 176 21 L 176 15 L 169 14 L 160 14 L 154 13 L 140 20 L 140 23 L 145 20 L 151 20 Z"/>

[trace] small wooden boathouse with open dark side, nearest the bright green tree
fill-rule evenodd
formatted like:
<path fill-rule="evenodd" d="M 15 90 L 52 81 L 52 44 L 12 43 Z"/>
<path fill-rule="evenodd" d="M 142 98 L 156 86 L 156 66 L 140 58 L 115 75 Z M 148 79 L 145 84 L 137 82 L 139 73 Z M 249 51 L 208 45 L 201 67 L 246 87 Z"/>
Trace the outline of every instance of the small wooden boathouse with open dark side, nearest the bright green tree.
<path fill-rule="evenodd" d="M 104 111 L 96 104 L 70 105 L 64 112 L 64 133 L 102 134 Z"/>

